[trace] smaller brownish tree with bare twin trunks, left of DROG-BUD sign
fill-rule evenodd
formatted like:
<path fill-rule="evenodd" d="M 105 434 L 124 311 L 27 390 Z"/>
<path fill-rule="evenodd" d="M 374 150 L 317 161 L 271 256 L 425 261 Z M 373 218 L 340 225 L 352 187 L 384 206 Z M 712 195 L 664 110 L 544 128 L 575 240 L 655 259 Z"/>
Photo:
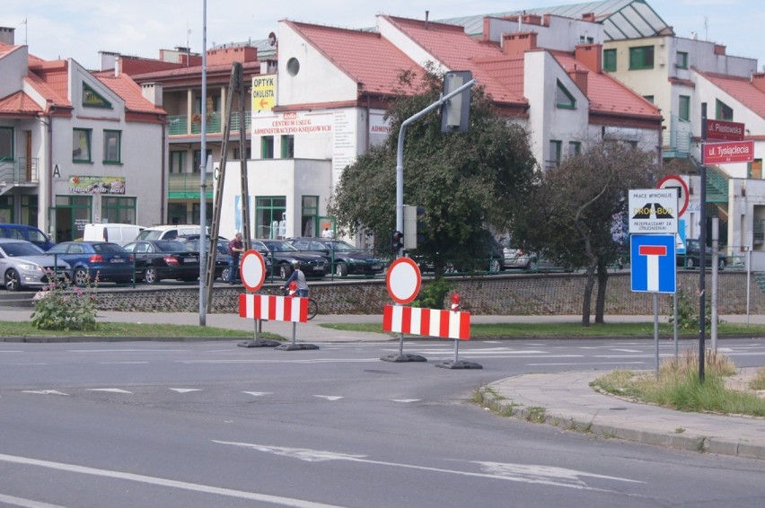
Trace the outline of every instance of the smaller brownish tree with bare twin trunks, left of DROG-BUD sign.
<path fill-rule="evenodd" d="M 582 325 L 603 322 L 608 267 L 624 255 L 622 231 L 630 188 L 653 188 L 655 152 L 604 140 L 541 175 L 527 206 L 516 215 L 514 236 L 527 250 L 568 267 L 585 267 Z"/>

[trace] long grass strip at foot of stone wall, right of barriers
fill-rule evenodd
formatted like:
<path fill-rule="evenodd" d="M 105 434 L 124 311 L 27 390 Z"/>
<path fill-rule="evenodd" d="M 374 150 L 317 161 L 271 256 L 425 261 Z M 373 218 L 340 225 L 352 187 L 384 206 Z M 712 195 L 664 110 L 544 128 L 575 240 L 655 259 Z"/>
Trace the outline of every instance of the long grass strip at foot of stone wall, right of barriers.
<path fill-rule="evenodd" d="M 367 333 L 389 333 L 382 331 L 381 323 L 323 323 L 324 328 L 360 331 Z M 765 326 L 720 323 L 718 335 L 765 336 Z M 659 324 L 661 337 L 673 337 L 673 327 Z M 681 337 L 698 337 L 695 330 L 678 330 Z M 472 324 L 470 337 L 654 337 L 654 323 L 604 323 L 583 327 L 578 322 L 570 323 L 497 323 Z"/>

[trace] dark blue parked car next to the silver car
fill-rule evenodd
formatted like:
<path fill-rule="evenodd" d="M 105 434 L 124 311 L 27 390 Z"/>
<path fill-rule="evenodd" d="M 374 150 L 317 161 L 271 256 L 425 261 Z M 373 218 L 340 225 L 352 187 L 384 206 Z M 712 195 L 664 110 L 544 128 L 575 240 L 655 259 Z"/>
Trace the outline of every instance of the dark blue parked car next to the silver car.
<path fill-rule="evenodd" d="M 69 264 L 69 276 L 75 285 L 133 280 L 133 255 L 110 241 L 63 241 L 47 252 Z"/>

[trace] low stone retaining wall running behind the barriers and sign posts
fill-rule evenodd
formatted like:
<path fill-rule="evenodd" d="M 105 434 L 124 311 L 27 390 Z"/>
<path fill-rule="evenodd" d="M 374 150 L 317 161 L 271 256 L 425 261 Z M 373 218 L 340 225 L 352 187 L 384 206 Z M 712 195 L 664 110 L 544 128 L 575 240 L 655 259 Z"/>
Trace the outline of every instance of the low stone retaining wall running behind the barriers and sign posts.
<path fill-rule="evenodd" d="M 698 272 L 679 272 L 681 288 L 698 302 Z M 462 309 L 475 314 L 555 315 L 580 314 L 585 276 L 582 274 L 539 274 L 523 276 L 455 277 L 453 289 L 462 297 Z M 423 283 L 426 285 L 427 281 Z M 380 314 L 391 303 L 383 280 L 348 280 L 310 283 L 311 296 L 319 302 L 322 314 Z M 746 313 L 746 274 L 721 272 L 718 311 L 720 314 Z M 265 285 L 272 289 L 276 285 Z M 653 314 L 653 298 L 629 290 L 629 272 L 611 274 L 606 293 L 606 314 Z M 711 276 L 707 276 L 708 292 Z M 750 309 L 765 313 L 765 293 L 752 277 Z M 597 285 L 593 294 L 597 291 Z M 211 313 L 238 312 L 241 287 L 220 285 L 214 288 Z M 184 311 L 199 310 L 199 289 L 187 287 L 140 287 L 136 289 L 99 288 L 99 308 L 104 311 Z M 659 296 L 660 312 L 672 312 L 672 297 Z M 592 310 L 594 312 L 594 297 Z"/>

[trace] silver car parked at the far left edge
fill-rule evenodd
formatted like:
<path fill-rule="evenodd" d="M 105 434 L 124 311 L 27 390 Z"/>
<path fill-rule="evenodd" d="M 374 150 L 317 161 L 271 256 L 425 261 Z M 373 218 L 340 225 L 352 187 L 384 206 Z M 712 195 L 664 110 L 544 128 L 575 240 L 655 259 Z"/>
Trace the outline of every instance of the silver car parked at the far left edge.
<path fill-rule="evenodd" d="M 58 273 L 66 274 L 66 261 L 47 256 L 34 243 L 25 240 L 0 239 L 0 274 L 8 291 L 23 287 L 44 287 L 50 282 L 48 274 L 58 267 Z"/>

